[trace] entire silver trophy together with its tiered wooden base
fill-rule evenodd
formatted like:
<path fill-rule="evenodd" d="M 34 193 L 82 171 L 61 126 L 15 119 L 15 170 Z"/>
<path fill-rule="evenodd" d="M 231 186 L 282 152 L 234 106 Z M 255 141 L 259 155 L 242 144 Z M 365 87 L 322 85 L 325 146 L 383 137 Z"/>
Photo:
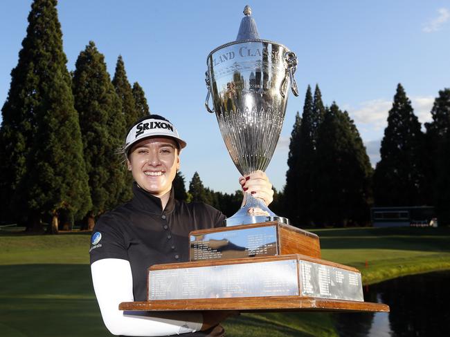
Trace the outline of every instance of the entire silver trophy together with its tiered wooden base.
<path fill-rule="evenodd" d="M 208 55 L 205 105 L 235 166 L 247 175 L 267 168 L 289 86 L 298 91 L 294 52 L 259 38 L 249 6 L 244 15 L 237 40 Z M 357 269 L 321 260 L 316 234 L 292 227 L 251 194 L 226 227 L 192 231 L 189 240 L 190 262 L 151 266 L 147 301 L 123 302 L 119 309 L 389 311 L 364 302 Z"/>

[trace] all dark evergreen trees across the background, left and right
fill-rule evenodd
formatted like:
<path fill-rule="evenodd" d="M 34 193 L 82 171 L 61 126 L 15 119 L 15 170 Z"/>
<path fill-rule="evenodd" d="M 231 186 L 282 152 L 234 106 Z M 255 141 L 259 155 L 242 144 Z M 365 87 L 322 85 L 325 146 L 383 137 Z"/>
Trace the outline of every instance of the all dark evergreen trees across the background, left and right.
<path fill-rule="evenodd" d="M 131 198 L 132 176 L 118 153 L 127 128 L 150 114 L 145 93 L 129 84 L 122 57 L 111 79 L 90 41 L 66 68 L 56 0 L 35 0 L 1 113 L 0 216 L 39 229 L 91 228 L 101 213 Z M 363 225 L 370 206 L 435 206 L 450 224 L 450 89 L 439 92 L 424 131 L 401 84 L 388 112 L 381 161 L 370 165 L 359 131 L 336 102 L 308 86 L 291 132 L 286 184 L 271 209 L 298 227 Z M 176 198 L 207 202 L 227 216 L 242 191 L 221 193 L 196 172 Z"/>

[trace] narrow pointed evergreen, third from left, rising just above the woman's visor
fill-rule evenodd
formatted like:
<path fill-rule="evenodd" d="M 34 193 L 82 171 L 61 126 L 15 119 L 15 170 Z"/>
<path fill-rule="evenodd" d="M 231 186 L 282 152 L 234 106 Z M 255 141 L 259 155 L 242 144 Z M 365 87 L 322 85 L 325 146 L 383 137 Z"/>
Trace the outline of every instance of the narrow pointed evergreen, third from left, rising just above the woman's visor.
<path fill-rule="evenodd" d="M 125 127 L 128 129 L 138 119 L 138 112 L 134 103 L 132 86 L 129 84 L 127 73 L 125 72 L 125 64 L 121 55 L 117 59 L 116 73 L 114 73 L 112 84 L 122 101 L 122 113 L 125 117 Z"/>

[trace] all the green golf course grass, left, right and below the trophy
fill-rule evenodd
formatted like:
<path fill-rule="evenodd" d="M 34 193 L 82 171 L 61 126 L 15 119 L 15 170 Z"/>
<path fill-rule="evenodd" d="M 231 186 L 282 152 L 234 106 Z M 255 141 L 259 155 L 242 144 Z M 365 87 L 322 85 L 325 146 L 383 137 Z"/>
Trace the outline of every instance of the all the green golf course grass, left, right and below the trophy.
<path fill-rule="evenodd" d="M 366 283 L 450 269 L 450 229 L 321 229 L 322 257 L 361 269 Z M 89 233 L 0 231 L 0 336 L 111 336 L 89 271 Z M 366 268 L 366 260 L 368 268 Z M 337 336 L 329 314 L 242 314 L 227 336 Z"/>

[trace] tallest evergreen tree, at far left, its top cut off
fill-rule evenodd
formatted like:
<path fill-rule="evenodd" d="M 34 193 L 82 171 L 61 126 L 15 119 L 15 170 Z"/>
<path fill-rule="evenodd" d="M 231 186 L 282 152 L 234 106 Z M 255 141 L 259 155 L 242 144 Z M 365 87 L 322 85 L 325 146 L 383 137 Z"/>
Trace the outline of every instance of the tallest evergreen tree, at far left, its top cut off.
<path fill-rule="evenodd" d="M 30 227 L 51 215 L 54 231 L 59 211 L 79 217 L 91 202 L 56 4 L 56 0 L 32 4 L 2 108 L 0 137 L 5 146 L 2 199 L 8 195 L 12 211 Z"/>

